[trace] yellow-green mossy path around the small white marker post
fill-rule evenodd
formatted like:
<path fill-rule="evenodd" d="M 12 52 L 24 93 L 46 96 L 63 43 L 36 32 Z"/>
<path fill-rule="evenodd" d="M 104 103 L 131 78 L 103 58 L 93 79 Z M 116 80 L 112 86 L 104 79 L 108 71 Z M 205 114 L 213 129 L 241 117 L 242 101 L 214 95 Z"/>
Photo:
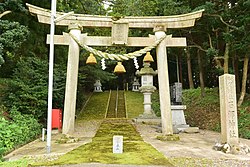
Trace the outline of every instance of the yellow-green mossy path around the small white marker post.
<path fill-rule="evenodd" d="M 112 152 L 114 135 L 123 136 L 123 153 Z M 59 157 L 58 160 L 34 165 L 80 163 L 166 165 L 172 166 L 163 154 L 143 141 L 134 126 L 126 119 L 104 120 L 91 143 Z"/>

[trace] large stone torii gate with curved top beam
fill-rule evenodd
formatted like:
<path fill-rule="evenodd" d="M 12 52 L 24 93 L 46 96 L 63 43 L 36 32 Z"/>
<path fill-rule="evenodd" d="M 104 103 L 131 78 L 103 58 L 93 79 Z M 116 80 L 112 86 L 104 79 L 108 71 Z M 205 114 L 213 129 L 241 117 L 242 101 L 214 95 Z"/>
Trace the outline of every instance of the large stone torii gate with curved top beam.
<path fill-rule="evenodd" d="M 50 10 L 27 4 L 31 14 L 37 16 L 38 21 L 50 24 Z M 127 47 L 151 46 L 156 40 L 166 36 L 165 32 L 170 28 L 192 27 L 195 20 L 200 18 L 203 10 L 175 15 L 175 16 L 148 16 L 148 17 L 122 17 L 117 20 L 110 16 L 96 16 L 85 14 L 73 14 L 56 23 L 59 26 L 68 26 L 69 33 L 74 35 L 78 41 L 87 46 L 114 46 L 122 45 Z M 65 13 L 57 12 L 57 16 Z M 111 36 L 88 36 L 81 34 L 84 27 L 106 27 L 111 28 Z M 149 37 L 128 37 L 129 28 L 153 29 L 154 35 Z M 74 131 L 75 110 L 76 110 L 76 91 L 79 65 L 80 46 L 69 33 L 54 36 L 54 44 L 68 45 L 68 65 L 65 89 L 63 133 L 70 134 Z M 49 44 L 50 36 L 47 36 Z M 167 35 L 156 47 L 158 82 L 160 96 L 160 110 L 162 120 L 163 135 L 173 134 L 172 112 L 169 91 L 169 76 L 167 64 L 166 47 L 185 47 L 186 38 L 172 37 Z"/>

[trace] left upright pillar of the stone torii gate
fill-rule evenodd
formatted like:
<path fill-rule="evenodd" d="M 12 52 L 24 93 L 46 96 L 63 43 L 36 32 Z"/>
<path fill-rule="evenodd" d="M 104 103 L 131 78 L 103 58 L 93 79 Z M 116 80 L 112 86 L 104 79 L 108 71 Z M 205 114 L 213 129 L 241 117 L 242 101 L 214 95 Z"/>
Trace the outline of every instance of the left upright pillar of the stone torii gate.
<path fill-rule="evenodd" d="M 69 26 L 70 33 L 80 38 L 81 30 L 78 25 Z M 70 38 L 67 79 L 65 89 L 64 113 L 63 113 L 63 134 L 69 134 L 74 131 L 75 126 L 75 110 L 76 110 L 76 90 L 78 79 L 80 48 L 74 39 Z"/>

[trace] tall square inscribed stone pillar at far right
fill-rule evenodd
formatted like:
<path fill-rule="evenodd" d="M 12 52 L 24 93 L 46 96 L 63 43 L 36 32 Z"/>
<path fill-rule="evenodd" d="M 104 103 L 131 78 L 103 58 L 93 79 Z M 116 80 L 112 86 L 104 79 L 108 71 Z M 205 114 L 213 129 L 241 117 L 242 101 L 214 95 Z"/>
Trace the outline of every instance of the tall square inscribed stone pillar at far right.
<path fill-rule="evenodd" d="M 236 105 L 235 76 L 224 74 L 219 77 L 221 142 L 238 145 L 238 120 Z"/>

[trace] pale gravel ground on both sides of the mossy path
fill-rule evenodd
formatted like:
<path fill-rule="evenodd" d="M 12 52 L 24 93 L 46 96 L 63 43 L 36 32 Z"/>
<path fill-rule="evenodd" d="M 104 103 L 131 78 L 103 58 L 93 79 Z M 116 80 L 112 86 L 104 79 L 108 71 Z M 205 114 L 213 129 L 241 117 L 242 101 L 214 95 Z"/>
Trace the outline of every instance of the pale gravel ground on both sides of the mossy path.
<path fill-rule="evenodd" d="M 47 159 L 57 158 L 57 156 L 65 154 L 82 144 L 91 142 L 91 138 L 95 135 L 100 123 L 100 121 L 78 122 L 76 124 L 76 131 L 72 134 L 80 139 L 77 143 L 58 144 L 55 141 L 60 138 L 60 134 L 53 134 L 52 153 L 50 154 L 46 153 L 46 142 L 42 142 L 39 139 L 13 151 L 9 155 L 5 156 L 5 158 L 9 160 L 15 160 L 23 156 Z M 180 141 L 163 142 L 156 139 L 156 136 L 160 135 L 160 133 L 156 132 L 155 126 L 142 123 L 135 123 L 134 125 L 144 141 L 150 143 L 167 158 L 170 158 L 170 162 L 175 166 L 250 167 L 250 154 L 232 155 L 212 149 L 215 142 L 220 140 L 219 133 L 203 130 L 201 130 L 200 133 L 195 134 L 181 133 L 179 134 L 181 139 Z M 240 142 L 250 146 L 250 140 L 240 139 Z M 115 164 L 81 164 L 70 166 L 134 167 L 133 165 Z"/>

